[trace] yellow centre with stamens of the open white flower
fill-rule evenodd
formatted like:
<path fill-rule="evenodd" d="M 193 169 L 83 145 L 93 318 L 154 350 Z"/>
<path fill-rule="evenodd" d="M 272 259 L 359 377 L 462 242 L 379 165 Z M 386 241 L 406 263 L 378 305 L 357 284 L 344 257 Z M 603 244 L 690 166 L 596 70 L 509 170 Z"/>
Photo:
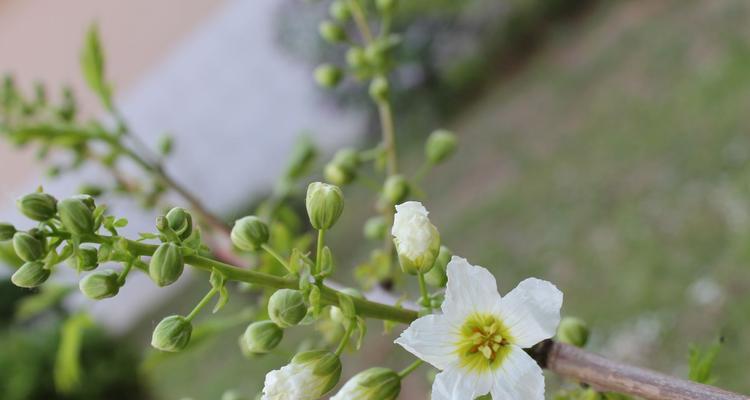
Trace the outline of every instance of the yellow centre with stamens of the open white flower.
<path fill-rule="evenodd" d="M 456 343 L 461 366 L 477 371 L 495 369 L 507 356 L 512 341 L 508 328 L 496 316 L 471 314 Z"/>

